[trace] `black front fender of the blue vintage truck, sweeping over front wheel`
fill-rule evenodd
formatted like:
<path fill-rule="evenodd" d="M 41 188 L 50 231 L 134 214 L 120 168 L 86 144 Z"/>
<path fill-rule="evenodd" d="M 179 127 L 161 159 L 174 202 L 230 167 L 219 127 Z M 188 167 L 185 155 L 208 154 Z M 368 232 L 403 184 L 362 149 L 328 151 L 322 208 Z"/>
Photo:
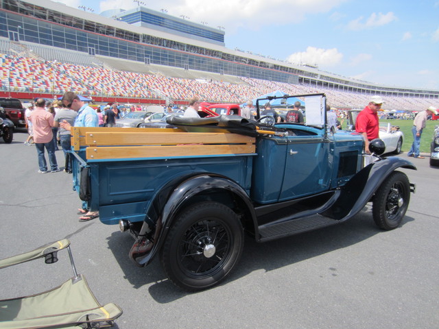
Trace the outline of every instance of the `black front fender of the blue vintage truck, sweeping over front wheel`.
<path fill-rule="evenodd" d="M 385 178 L 398 168 L 416 170 L 412 162 L 396 156 L 372 162 L 342 186 L 340 197 L 329 210 L 321 215 L 343 220 L 357 215 L 370 201 Z"/>

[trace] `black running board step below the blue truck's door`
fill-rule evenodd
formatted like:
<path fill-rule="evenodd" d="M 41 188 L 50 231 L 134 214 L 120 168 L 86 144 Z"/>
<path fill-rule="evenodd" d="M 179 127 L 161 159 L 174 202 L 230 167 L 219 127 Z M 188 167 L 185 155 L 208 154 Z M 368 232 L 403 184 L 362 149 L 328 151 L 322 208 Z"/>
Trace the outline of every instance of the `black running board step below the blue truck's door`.
<path fill-rule="evenodd" d="M 340 222 L 341 221 L 316 214 L 298 219 L 292 219 L 291 221 L 284 221 L 283 223 L 265 224 L 259 226 L 260 241 L 270 241 L 273 239 L 282 238 L 283 236 L 324 228 Z"/>

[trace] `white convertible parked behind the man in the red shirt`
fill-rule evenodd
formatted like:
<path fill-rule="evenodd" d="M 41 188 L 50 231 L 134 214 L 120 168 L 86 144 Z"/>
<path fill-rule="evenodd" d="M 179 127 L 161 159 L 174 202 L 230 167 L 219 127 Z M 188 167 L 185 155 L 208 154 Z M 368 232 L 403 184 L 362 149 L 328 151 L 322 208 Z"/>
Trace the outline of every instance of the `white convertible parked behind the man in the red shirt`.
<path fill-rule="evenodd" d="M 348 112 L 348 130 L 355 130 L 355 121 L 361 110 L 350 110 Z M 379 123 L 379 138 L 385 144 L 384 153 L 400 154 L 404 143 L 404 134 L 399 126 L 390 123 Z"/>

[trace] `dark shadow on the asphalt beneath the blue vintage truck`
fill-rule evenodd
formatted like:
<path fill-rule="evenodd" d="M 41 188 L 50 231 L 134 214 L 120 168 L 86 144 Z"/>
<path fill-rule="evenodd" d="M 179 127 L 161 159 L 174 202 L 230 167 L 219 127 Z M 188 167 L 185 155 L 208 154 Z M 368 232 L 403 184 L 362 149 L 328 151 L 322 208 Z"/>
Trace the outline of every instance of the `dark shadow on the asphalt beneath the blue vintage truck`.
<path fill-rule="evenodd" d="M 410 221 L 414 221 L 414 219 L 405 215 L 401 226 Z M 337 249 L 369 239 L 375 234 L 386 234 L 386 232 L 375 226 L 370 212 L 363 210 L 346 223 L 266 243 L 257 243 L 251 236 L 246 236 L 241 260 L 230 276 L 219 286 L 243 278 L 253 271 L 261 269 L 272 271 L 299 263 L 302 260 L 334 252 Z M 128 258 L 128 251 L 132 243 L 133 239 L 129 234 L 113 232 L 108 237 L 108 247 L 123 270 L 124 278 L 132 284 L 134 289 L 150 284 L 148 288 L 150 295 L 161 304 L 173 302 L 189 294 L 174 286 L 167 279 L 166 274 L 161 269 L 158 255 L 155 256 L 150 265 L 143 269 L 134 265 Z"/>

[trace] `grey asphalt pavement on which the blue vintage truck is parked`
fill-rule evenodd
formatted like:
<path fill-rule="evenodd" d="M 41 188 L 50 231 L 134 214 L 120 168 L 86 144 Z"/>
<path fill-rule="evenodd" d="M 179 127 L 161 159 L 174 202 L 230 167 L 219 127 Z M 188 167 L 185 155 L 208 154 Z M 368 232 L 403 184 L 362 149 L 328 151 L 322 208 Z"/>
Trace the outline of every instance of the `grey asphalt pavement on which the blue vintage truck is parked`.
<path fill-rule="evenodd" d="M 99 219 L 80 223 L 71 175 L 37 173 L 35 147 L 0 141 L 0 258 L 68 238 L 97 300 L 123 309 L 135 328 L 438 328 L 439 169 L 428 158 L 403 169 L 416 183 L 401 227 L 385 232 L 366 206 L 351 221 L 269 243 L 246 238 L 235 271 L 219 286 L 185 293 L 158 258 L 144 268 L 128 259 L 132 237 Z M 56 156 L 64 164 L 62 151 Z M 407 158 L 406 153 L 401 157 Z M 0 270 L 0 298 L 56 287 L 73 273 L 60 262 Z"/>

